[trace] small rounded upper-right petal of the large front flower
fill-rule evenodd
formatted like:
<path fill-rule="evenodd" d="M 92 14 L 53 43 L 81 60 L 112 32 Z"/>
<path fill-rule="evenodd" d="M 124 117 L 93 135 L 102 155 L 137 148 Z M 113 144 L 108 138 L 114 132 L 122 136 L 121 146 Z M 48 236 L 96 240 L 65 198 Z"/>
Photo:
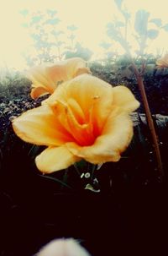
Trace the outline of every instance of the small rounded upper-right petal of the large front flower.
<path fill-rule="evenodd" d="M 123 112 L 133 112 L 139 107 L 139 101 L 127 87 L 118 85 L 113 87 L 113 105 L 121 107 Z"/>

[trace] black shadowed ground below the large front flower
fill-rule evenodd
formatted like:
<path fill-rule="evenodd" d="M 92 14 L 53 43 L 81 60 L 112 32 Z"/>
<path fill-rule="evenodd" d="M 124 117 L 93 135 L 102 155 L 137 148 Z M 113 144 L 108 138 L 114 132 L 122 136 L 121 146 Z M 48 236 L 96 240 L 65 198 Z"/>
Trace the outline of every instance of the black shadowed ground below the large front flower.
<path fill-rule="evenodd" d="M 33 255 L 56 237 L 79 239 L 95 256 L 167 255 L 167 184 L 125 182 L 107 164 L 97 174 L 101 193 L 61 190 L 30 172 L 24 154 L 13 157 L 1 173 L 0 255 Z"/>

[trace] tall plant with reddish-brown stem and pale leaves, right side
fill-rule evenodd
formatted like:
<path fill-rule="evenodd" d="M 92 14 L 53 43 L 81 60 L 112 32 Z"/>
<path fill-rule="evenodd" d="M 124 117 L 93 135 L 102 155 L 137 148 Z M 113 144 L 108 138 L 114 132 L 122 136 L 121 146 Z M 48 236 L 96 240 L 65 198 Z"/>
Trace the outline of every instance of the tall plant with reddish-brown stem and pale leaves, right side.
<path fill-rule="evenodd" d="M 118 21 L 115 21 L 114 24 L 109 24 L 108 25 L 108 35 L 109 36 L 114 36 L 114 40 L 118 41 L 118 43 L 123 46 L 123 50 L 125 51 L 125 53 L 128 55 L 129 59 L 130 59 L 130 65 L 131 68 L 133 68 L 134 70 L 134 75 L 135 78 L 137 80 L 137 84 L 139 87 L 139 92 L 140 95 L 142 97 L 142 101 L 143 101 L 143 106 L 144 106 L 144 112 L 147 118 L 147 123 L 149 125 L 149 130 L 153 139 L 153 146 L 155 149 L 155 157 L 157 160 L 157 167 L 158 167 L 158 172 L 160 172 L 160 177 L 161 179 L 163 179 L 164 177 L 164 169 L 163 169 L 163 165 L 162 165 L 162 161 L 161 161 L 161 155 L 160 155 L 160 147 L 159 147 L 159 142 L 158 142 L 158 137 L 155 133 L 155 126 L 154 126 L 154 122 L 152 120 L 152 116 L 151 116 L 151 112 L 150 112 L 150 106 L 149 106 L 149 102 L 147 99 L 147 95 L 144 89 L 144 70 L 145 70 L 145 58 L 144 58 L 144 53 L 145 53 L 145 48 L 147 46 L 147 41 L 148 39 L 150 40 L 154 40 L 157 35 L 159 35 L 159 30 L 150 30 L 149 29 L 149 16 L 150 14 L 148 12 L 146 12 L 145 10 L 138 10 L 137 13 L 135 14 L 135 20 L 134 20 L 134 30 L 136 32 L 136 34 L 134 34 L 134 38 L 138 43 L 138 50 L 136 51 L 137 56 L 141 57 L 141 67 L 139 68 L 138 66 L 136 66 L 136 64 L 134 63 L 133 57 L 132 57 L 132 53 L 130 51 L 130 39 L 128 41 L 128 25 L 129 25 L 129 17 L 130 15 L 125 15 L 126 13 L 123 11 L 122 8 L 122 2 L 118 1 L 116 2 L 119 8 L 119 11 L 121 12 L 121 14 L 123 14 L 123 19 L 124 19 L 124 23 L 119 23 L 118 25 Z M 160 22 L 158 22 L 157 20 L 157 24 L 160 25 Z M 121 30 L 121 26 L 124 26 L 124 34 L 122 33 Z"/>

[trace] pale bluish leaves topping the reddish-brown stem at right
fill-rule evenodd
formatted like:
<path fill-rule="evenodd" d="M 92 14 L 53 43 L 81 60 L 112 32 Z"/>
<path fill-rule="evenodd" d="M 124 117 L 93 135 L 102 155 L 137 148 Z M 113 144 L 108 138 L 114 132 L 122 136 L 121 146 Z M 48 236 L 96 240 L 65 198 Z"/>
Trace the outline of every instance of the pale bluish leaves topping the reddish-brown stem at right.
<path fill-rule="evenodd" d="M 161 19 L 151 19 L 150 13 L 144 9 L 139 9 L 135 17 L 132 17 L 123 2 L 123 0 L 115 1 L 121 20 L 113 19 L 113 22 L 108 23 L 108 37 L 112 41 L 117 41 L 128 55 L 136 53 L 137 56 L 144 56 L 148 43 L 160 35 L 160 30 L 167 31 L 168 24 L 162 24 Z M 136 52 L 131 51 L 133 39 L 137 44 Z"/>

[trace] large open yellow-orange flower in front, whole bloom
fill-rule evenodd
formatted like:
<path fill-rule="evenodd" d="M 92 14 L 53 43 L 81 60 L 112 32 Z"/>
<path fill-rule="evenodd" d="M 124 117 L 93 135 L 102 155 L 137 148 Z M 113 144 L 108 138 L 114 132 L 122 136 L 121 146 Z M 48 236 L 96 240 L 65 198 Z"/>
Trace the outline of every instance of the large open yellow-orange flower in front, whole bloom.
<path fill-rule="evenodd" d="M 42 106 L 14 119 L 13 129 L 24 141 L 47 146 L 35 159 L 41 172 L 65 169 L 81 159 L 119 161 L 133 136 L 129 113 L 137 107 L 127 87 L 113 88 L 81 74 L 60 84 Z"/>

